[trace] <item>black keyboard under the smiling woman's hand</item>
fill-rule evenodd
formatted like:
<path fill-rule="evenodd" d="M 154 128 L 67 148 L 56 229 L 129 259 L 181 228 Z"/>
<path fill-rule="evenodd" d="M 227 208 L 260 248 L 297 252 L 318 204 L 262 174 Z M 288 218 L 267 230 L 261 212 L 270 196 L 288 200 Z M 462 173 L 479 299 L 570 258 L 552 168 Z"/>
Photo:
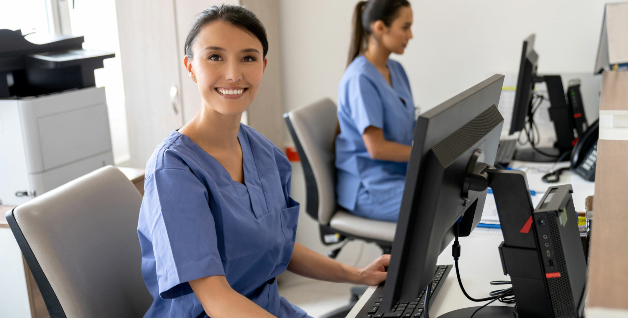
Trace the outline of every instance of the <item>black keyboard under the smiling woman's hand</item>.
<path fill-rule="evenodd" d="M 430 297 L 428 299 L 429 305 L 432 304 L 436 294 L 438 294 L 438 290 L 440 290 L 440 287 L 443 285 L 442 282 L 445 281 L 445 278 L 449 274 L 452 267 L 453 265 L 436 266 L 434 279 L 432 280 L 430 288 Z M 424 293 L 425 290 L 421 290 L 417 293 L 416 299 L 404 303 L 397 302 L 392 309 L 385 309 L 379 306 L 379 303 L 382 300 L 382 295 L 384 294 L 384 284 L 381 284 L 377 286 L 377 289 L 373 292 L 371 298 L 366 302 L 364 307 L 362 307 L 362 310 L 360 310 L 356 318 L 421 317 L 425 307 Z"/>

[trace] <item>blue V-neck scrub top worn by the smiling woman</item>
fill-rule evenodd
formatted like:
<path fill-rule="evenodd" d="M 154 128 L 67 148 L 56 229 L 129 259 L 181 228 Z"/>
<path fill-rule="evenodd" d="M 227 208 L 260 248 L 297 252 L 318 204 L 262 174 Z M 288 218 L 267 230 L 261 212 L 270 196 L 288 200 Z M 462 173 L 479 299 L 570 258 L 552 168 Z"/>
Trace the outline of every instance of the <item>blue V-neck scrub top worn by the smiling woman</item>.
<path fill-rule="evenodd" d="M 295 245 L 290 162 L 251 127 L 241 125 L 238 139 L 246 186 L 176 131 L 146 164 L 138 235 L 154 301 L 144 317 L 207 317 L 188 281 L 214 275 L 276 317 L 306 317 L 274 280 Z"/>

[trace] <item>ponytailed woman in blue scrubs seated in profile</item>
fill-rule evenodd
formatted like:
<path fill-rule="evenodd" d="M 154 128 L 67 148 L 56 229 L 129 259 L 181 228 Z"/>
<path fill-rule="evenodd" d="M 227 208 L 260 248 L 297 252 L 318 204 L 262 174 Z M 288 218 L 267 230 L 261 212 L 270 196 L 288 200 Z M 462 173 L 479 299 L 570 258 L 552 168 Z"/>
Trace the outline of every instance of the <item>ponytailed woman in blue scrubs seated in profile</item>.
<path fill-rule="evenodd" d="M 360 1 L 349 66 L 338 84 L 338 204 L 355 215 L 397 221 L 416 122 L 408 76 L 391 53 L 412 38 L 406 0 Z"/>

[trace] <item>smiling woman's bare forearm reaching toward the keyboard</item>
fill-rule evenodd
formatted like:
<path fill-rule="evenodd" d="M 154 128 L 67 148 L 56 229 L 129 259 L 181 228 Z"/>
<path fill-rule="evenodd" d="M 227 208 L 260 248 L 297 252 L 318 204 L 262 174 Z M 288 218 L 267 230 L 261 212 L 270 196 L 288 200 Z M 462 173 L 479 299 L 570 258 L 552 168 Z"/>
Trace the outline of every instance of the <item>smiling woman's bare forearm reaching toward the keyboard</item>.
<path fill-rule="evenodd" d="M 299 243 L 295 243 L 288 270 L 297 275 L 328 282 L 357 284 L 360 280 L 358 268 L 324 257 Z"/>

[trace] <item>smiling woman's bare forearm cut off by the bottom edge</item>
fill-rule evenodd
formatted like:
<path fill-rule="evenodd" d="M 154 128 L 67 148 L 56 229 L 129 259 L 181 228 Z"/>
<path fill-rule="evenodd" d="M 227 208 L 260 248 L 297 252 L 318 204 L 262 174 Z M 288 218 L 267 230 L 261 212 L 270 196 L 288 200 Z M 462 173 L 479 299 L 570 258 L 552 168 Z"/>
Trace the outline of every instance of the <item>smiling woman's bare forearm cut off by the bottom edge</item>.
<path fill-rule="evenodd" d="M 190 280 L 190 287 L 212 318 L 255 317 L 273 318 L 268 311 L 233 290 L 224 276 Z"/>

